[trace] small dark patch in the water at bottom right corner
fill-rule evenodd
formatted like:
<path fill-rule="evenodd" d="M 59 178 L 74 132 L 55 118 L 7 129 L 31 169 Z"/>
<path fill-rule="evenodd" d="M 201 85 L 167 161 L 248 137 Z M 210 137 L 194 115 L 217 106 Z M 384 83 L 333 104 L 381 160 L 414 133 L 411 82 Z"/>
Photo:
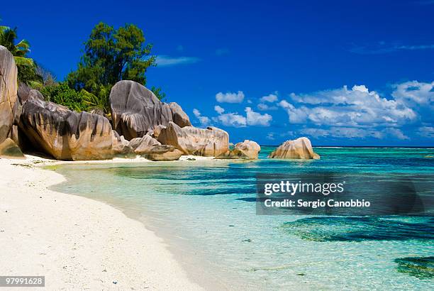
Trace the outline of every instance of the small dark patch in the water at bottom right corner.
<path fill-rule="evenodd" d="M 434 278 L 434 257 L 396 258 L 396 270 L 419 279 Z"/>

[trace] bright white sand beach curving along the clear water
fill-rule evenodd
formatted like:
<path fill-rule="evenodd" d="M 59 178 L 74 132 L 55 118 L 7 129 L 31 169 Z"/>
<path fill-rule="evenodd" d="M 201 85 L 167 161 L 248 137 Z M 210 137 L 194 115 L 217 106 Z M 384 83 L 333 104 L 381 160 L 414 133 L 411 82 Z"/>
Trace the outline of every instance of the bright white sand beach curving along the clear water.
<path fill-rule="evenodd" d="M 0 275 L 45 275 L 46 290 L 200 290 L 165 243 L 102 202 L 48 190 L 65 178 L 0 159 Z"/>

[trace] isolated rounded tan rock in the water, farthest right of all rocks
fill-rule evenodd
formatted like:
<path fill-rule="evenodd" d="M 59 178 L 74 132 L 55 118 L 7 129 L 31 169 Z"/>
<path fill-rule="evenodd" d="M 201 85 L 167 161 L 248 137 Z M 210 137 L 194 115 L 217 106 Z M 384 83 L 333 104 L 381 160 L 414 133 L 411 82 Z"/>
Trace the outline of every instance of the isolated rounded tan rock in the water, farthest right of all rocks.
<path fill-rule="evenodd" d="M 294 141 L 285 141 L 268 158 L 280 159 L 319 159 L 313 152 L 311 141 L 308 138 L 297 138 Z"/>

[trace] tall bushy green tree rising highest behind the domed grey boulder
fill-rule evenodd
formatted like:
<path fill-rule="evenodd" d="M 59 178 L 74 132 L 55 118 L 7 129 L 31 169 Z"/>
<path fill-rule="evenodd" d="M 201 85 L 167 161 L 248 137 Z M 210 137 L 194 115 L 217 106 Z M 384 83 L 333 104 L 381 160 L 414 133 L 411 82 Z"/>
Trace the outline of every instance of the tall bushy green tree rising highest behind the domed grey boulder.
<path fill-rule="evenodd" d="M 107 92 L 121 79 L 146 84 L 145 73 L 148 67 L 155 66 L 152 45 L 145 44 L 143 31 L 133 24 L 116 30 L 99 23 L 84 45 L 84 55 L 77 70 L 67 76 L 67 82 L 69 87 L 85 89 L 96 97 L 108 100 Z"/>

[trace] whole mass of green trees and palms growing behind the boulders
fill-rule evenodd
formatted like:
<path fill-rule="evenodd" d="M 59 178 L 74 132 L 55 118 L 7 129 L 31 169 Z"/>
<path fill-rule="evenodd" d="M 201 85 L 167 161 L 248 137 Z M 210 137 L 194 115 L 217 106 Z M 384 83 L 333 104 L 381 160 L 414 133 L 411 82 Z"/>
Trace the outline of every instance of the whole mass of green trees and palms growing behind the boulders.
<path fill-rule="evenodd" d="M 67 106 L 74 111 L 102 111 L 110 115 L 111 87 L 123 79 L 146 84 L 148 67 L 155 67 L 152 44 L 146 43 L 143 31 L 133 24 L 118 29 L 98 23 L 84 43 L 84 53 L 77 70 L 57 82 L 50 70 L 37 64 L 27 40 L 17 41 L 17 28 L 0 26 L 0 45 L 14 56 L 18 67 L 18 82 L 38 89 L 46 101 Z M 158 99 L 166 94 L 152 87 Z"/>

